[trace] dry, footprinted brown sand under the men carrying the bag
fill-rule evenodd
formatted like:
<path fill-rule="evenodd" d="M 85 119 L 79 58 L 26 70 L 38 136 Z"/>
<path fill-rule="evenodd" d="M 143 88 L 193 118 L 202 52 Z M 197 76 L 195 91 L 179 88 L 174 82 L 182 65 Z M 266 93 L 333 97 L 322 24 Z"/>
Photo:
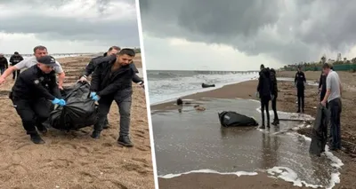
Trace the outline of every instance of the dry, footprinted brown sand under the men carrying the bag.
<path fill-rule="evenodd" d="M 58 59 L 67 85 L 77 81 L 90 58 Z M 135 59 L 141 67 L 141 57 Z M 109 130 L 90 137 L 92 128 L 63 133 L 49 130 L 44 145 L 35 145 L 23 130 L 20 117 L 7 98 L 11 76 L 0 86 L 0 188 L 154 188 L 150 134 L 142 88 L 134 85 L 131 138 L 133 148 L 117 145 L 119 114 L 109 113 Z"/>

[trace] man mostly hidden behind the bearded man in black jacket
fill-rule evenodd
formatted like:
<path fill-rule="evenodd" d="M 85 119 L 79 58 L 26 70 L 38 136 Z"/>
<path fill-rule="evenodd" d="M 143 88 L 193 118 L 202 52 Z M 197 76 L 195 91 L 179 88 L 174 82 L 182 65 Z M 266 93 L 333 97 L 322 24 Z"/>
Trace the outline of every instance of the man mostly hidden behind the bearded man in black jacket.
<path fill-rule="evenodd" d="M 115 59 L 117 59 L 117 52 L 120 51 L 120 47 L 117 46 L 112 46 L 109 48 L 109 51 L 105 52 L 103 54 L 103 56 L 99 56 L 96 58 L 93 58 L 89 64 L 85 67 L 85 73 L 80 77 L 79 81 L 80 82 L 86 82 L 86 78 L 91 75 L 93 73 L 93 71 L 95 70 L 95 67 L 98 67 L 99 64 L 101 64 L 102 62 L 109 62 L 109 61 L 113 61 Z M 133 62 L 134 63 L 134 62 Z M 133 67 L 134 72 L 137 74 L 139 73 L 139 71 L 137 70 L 137 68 L 134 66 L 134 64 L 130 64 L 131 67 Z M 138 76 L 138 75 L 134 75 L 133 77 L 133 82 L 134 83 L 139 83 L 142 87 L 144 87 L 143 85 L 143 80 Z M 108 129 L 109 128 L 109 122 L 108 122 L 108 117 L 106 118 L 104 125 L 102 127 L 102 129 Z"/>

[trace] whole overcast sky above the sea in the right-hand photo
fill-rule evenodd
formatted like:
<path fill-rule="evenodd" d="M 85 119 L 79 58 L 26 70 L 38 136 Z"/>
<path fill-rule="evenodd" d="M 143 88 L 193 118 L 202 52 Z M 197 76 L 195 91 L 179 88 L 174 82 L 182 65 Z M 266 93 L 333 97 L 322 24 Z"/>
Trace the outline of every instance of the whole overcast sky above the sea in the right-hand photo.
<path fill-rule="evenodd" d="M 354 0 L 145 0 L 149 69 L 251 70 L 356 57 Z"/>

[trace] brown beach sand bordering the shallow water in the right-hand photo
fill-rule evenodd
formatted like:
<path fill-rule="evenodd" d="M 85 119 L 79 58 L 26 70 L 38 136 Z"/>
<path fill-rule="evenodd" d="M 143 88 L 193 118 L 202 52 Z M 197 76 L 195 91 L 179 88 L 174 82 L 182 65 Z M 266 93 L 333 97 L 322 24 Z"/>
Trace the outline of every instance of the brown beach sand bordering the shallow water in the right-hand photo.
<path fill-rule="evenodd" d="M 295 72 L 280 72 L 279 77 L 294 78 Z M 308 80 L 319 81 L 320 72 L 305 72 Z M 352 121 L 356 117 L 356 74 L 339 72 L 343 91 L 343 113 L 342 113 L 342 135 L 343 146 L 346 147 L 342 152 L 336 152 L 336 156 L 344 162 L 341 169 L 341 184 L 334 188 L 356 188 L 354 177 L 356 177 L 356 163 L 352 159 L 352 144 L 355 141 L 356 130 L 352 127 Z M 247 98 L 255 99 L 257 81 L 248 81 L 224 86 L 223 88 L 200 92 L 187 97 L 186 99 L 207 98 Z M 297 110 L 296 91 L 293 83 L 279 82 L 278 110 L 294 113 Z M 315 106 L 318 106 L 319 95 L 317 86 L 308 85 L 305 90 L 305 114 L 316 114 Z M 204 106 L 204 105 L 203 105 Z M 168 102 L 157 106 L 151 106 L 151 110 L 164 110 L 176 108 L 174 102 Z M 273 115 L 271 115 L 271 120 Z M 154 126 L 153 126 L 154 127 Z M 310 129 L 299 130 L 300 133 L 311 136 Z M 354 152 L 353 152 L 354 153 Z M 191 173 L 173 178 L 158 178 L 160 188 L 300 188 L 281 179 L 268 177 L 265 173 L 258 176 L 226 176 L 214 173 Z"/>

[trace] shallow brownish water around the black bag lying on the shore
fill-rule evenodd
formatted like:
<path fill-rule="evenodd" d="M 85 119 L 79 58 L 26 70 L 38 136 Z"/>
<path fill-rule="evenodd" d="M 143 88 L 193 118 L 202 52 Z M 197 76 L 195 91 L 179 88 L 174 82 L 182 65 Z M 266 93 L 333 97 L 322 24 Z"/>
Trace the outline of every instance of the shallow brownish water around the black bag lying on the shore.
<path fill-rule="evenodd" d="M 270 169 L 270 173 L 284 170 L 284 178 L 289 181 L 330 185 L 331 174 L 337 172 L 335 162 L 333 167 L 327 156 L 311 156 L 310 140 L 291 130 L 303 122 L 280 122 L 279 127 L 271 125 L 270 130 L 222 128 L 217 113 L 228 110 L 253 116 L 260 122 L 259 103 L 246 99 L 209 99 L 202 103 L 204 112 L 184 106 L 182 113 L 174 109 L 152 114 L 158 175 L 197 169 Z M 279 118 L 312 119 L 283 113 Z"/>

